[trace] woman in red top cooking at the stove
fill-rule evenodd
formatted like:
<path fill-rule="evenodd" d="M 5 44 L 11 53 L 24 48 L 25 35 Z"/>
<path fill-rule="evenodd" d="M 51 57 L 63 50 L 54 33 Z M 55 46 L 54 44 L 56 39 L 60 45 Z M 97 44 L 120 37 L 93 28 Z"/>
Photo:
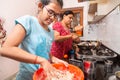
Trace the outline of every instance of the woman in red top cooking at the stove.
<path fill-rule="evenodd" d="M 67 10 L 62 15 L 62 20 L 53 25 L 54 42 L 51 47 L 51 54 L 59 59 L 63 59 L 65 54 L 68 54 L 72 49 L 74 42 L 80 42 L 80 38 L 70 32 L 71 22 L 73 21 L 74 13 Z"/>

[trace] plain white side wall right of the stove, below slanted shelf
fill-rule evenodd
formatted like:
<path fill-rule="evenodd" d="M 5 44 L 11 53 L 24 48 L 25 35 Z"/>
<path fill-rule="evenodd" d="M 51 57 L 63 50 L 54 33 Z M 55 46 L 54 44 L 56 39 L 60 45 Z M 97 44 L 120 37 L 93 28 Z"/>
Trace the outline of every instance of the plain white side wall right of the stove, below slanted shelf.
<path fill-rule="evenodd" d="M 97 24 L 99 39 L 120 54 L 120 7 Z"/>

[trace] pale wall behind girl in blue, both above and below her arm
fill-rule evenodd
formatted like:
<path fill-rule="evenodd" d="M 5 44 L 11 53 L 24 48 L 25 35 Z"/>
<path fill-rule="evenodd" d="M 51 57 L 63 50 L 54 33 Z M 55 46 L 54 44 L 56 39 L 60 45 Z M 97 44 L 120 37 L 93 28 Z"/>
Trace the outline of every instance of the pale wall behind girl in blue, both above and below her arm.
<path fill-rule="evenodd" d="M 36 15 L 35 0 L 1 0 L 0 17 L 5 19 L 4 28 L 7 34 L 14 27 L 14 20 L 26 14 Z M 0 80 L 13 75 L 18 71 L 19 62 L 0 56 Z"/>

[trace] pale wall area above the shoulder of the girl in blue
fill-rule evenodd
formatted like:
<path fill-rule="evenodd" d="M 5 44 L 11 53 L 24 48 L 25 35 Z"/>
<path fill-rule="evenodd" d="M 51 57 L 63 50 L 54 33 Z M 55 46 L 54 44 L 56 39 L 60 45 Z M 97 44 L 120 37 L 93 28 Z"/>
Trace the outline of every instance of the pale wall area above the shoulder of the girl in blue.
<path fill-rule="evenodd" d="M 4 28 L 7 33 L 11 32 L 14 26 L 14 19 L 30 14 L 36 14 L 35 0 L 2 0 L 0 2 L 0 17 L 5 19 Z"/>

